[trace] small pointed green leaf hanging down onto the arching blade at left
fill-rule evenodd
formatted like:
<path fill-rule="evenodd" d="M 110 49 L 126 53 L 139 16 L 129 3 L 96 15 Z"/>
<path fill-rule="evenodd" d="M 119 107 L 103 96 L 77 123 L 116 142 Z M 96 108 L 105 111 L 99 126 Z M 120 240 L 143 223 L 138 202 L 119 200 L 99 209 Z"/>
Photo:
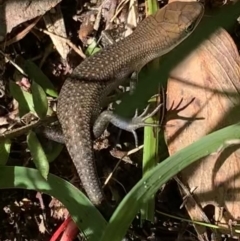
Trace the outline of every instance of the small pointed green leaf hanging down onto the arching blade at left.
<path fill-rule="evenodd" d="M 27 135 L 27 144 L 32 154 L 33 162 L 41 175 L 47 180 L 49 174 L 49 162 L 34 132 L 30 131 Z"/>

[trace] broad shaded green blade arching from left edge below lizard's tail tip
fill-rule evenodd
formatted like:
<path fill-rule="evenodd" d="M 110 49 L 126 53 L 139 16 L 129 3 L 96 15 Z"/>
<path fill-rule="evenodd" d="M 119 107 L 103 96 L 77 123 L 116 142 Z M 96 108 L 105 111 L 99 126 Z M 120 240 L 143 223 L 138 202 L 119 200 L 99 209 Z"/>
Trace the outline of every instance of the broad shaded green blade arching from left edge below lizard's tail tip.
<path fill-rule="evenodd" d="M 68 209 L 88 241 L 99 240 L 106 221 L 88 198 L 71 183 L 49 174 L 46 181 L 40 173 L 26 167 L 1 167 L 0 189 L 21 188 L 43 192 L 57 198 Z"/>

